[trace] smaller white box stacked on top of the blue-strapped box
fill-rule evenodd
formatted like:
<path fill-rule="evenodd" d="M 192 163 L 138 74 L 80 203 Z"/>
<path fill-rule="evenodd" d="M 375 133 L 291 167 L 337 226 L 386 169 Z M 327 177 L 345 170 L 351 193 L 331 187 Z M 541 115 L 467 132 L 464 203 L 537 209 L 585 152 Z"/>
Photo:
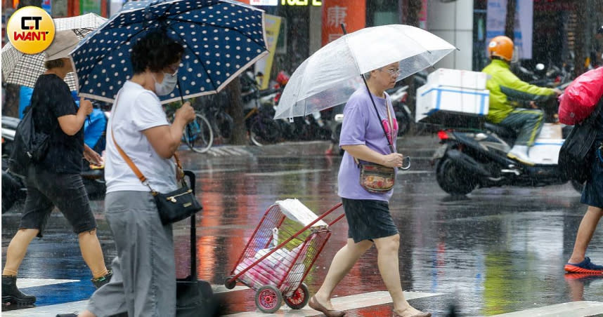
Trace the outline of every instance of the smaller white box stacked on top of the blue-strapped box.
<path fill-rule="evenodd" d="M 486 89 L 488 74 L 468 70 L 439 68 L 427 76 L 432 86 L 450 86 L 469 89 Z"/>

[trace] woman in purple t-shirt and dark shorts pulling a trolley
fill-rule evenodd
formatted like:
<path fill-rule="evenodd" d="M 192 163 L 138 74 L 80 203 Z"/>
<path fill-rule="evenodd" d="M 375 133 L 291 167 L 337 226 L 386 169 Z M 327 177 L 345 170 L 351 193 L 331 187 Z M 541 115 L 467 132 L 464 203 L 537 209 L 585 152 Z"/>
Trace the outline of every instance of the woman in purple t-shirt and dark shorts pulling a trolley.
<path fill-rule="evenodd" d="M 397 62 L 365 74 L 379 118 L 365 87 L 351 95 L 344 109 L 339 147 L 345 150 L 345 154 L 339 166 L 337 182 L 338 194 L 342 197 L 349 225 L 348 240 L 333 258 L 323 285 L 309 301 L 311 308 L 328 317 L 345 315 L 344 311 L 333 309 L 331 293 L 373 243 L 377 248 L 379 271 L 394 302 L 394 316 L 432 316 L 431 313 L 422 313 L 410 306 L 402 292 L 398 270 L 400 235 L 389 213 L 392 191 L 375 194 L 361 187 L 360 168 L 354 160 L 356 158 L 391 168 L 402 166 L 404 156 L 396 151 L 391 153 L 389 142 L 384 136 L 385 130 L 395 150 L 398 126 L 395 117 L 391 125 L 389 123 L 387 107 L 391 114 L 394 109 L 385 90 L 394 87 L 398 74 Z"/>

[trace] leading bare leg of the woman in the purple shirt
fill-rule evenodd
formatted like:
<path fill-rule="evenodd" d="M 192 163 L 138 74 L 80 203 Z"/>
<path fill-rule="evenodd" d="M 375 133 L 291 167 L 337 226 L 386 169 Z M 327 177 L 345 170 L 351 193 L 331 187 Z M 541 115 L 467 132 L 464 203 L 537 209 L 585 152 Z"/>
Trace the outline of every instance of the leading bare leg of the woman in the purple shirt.
<path fill-rule="evenodd" d="M 377 264 L 383 283 L 394 302 L 394 311 L 400 316 L 413 316 L 420 311 L 410 306 L 404 298 L 400 271 L 398 266 L 398 248 L 400 248 L 400 235 L 375 239 L 377 248 Z"/>

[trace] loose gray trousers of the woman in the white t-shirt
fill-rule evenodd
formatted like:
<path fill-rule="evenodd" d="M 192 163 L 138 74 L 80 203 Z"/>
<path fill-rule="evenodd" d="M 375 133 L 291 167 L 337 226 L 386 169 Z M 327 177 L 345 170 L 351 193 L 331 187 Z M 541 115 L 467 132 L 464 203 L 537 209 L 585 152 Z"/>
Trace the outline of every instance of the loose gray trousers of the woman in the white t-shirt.
<path fill-rule="evenodd" d="M 105 197 L 105 217 L 117 245 L 110 283 L 94 292 L 86 309 L 98 317 L 176 316 L 176 264 L 171 224 L 164 226 L 150 192 L 115 191 Z"/>

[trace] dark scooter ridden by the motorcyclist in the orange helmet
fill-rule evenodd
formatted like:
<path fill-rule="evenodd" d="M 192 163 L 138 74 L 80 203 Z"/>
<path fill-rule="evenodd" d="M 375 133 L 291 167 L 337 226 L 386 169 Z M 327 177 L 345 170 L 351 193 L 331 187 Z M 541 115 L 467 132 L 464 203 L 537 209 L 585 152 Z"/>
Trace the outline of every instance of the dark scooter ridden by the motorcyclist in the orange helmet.
<path fill-rule="evenodd" d="M 476 187 L 564 184 L 569 180 L 557 166 L 562 137 L 567 133 L 561 130 L 560 125 L 543 126 L 529 151 L 533 166 L 507 157 L 517 137 L 514 130 L 488 122 L 481 122 L 478 128 L 440 130 L 442 145 L 432 157 L 436 180 L 441 189 L 452 195 L 469 194 Z M 572 185 L 578 191 L 583 187 L 577 182 Z"/>

